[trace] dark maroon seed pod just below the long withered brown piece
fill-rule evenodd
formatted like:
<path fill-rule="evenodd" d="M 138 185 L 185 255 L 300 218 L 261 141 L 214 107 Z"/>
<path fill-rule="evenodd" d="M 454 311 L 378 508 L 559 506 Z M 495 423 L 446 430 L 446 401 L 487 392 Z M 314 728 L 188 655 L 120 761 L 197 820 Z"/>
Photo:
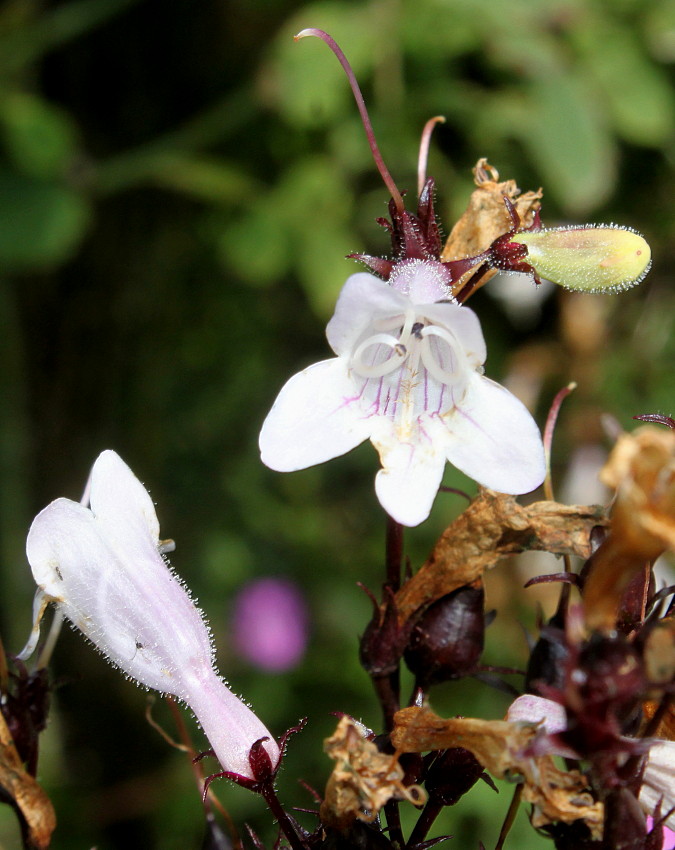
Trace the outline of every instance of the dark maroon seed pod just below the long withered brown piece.
<path fill-rule="evenodd" d="M 405 661 L 426 685 L 474 672 L 483 652 L 484 591 L 467 585 L 436 600 L 412 630 Z"/>

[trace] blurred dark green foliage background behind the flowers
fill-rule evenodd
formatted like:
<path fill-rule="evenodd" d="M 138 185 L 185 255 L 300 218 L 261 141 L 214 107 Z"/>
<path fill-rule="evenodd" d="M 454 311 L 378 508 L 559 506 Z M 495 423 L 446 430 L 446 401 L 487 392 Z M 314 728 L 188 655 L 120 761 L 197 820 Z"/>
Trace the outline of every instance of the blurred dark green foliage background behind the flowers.
<path fill-rule="evenodd" d="M 328 775 L 330 712 L 379 723 L 357 661 L 369 604 L 355 586 L 382 580 L 376 457 L 364 446 L 280 476 L 261 466 L 257 432 L 283 381 L 328 356 L 323 326 L 354 268 L 344 255 L 388 249 L 373 222 L 387 194 L 346 80 L 325 45 L 292 40 L 308 26 L 344 48 L 389 169 L 410 195 L 421 127 L 446 116 L 430 165 L 446 231 L 468 199 L 471 166 L 487 156 L 523 189 L 543 185 L 545 222 L 618 220 L 649 238 L 654 269 L 612 302 L 592 367 L 559 333 L 564 294 L 527 328 L 483 292 L 472 303 L 491 377 L 503 379 L 528 351 L 543 364 L 540 421 L 552 394 L 580 381 L 556 441 L 561 470 L 579 435 L 599 431 L 600 412 L 627 427 L 635 413 L 672 414 L 675 391 L 672 0 L 5 0 L 6 645 L 18 651 L 29 629 L 22 549 L 32 516 L 59 495 L 79 498 L 95 456 L 115 448 L 178 541 L 173 563 L 211 620 L 235 690 L 277 734 L 310 717 L 281 777 L 282 797 L 302 806 L 312 803 L 296 778 L 321 788 Z M 473 486 L 453 470 L 446 483 Z M 460 509 L 461 499 L 441 496 L 408 535 L 413 567 Z M 234 592 L 268 574 L 299 582 L 312 611 L 308 656 L 284 677 L 228 650 Z M 513 609 L 499 619 L 532 625 L 533 607 L 523 613 L 531 597 L 512 590 Z M 495 640 L 485 660 L 518 666 L 521 653 L 517 640 Z M 199 846 L 189 766 L 148 727 L 145 695 L 72 634 L 54 674 L 41 779 L 59 815 L 55 847 Z M 473 683 L 439 691 L 448 712 L 470 705 L 501 716 L 506 704 Z M 162 706 L 156 715 L 173 728 Z M 219 794 L 239 827 L 246 820 L 270 836 L 259 800 L 225 786 Z M 510 792 L 492 794 L 475 789 L 439 833 L 458 847 L 491 846 Z M 543 845 L 521 821 L 513 846 Z M 0 845 L 17 841 L 1 809 Z"/>

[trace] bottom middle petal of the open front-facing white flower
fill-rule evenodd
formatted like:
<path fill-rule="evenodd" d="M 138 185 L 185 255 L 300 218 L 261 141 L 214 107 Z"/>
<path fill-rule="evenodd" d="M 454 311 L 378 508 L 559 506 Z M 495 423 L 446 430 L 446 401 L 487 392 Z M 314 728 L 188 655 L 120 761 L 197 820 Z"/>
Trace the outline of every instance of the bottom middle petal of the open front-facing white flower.
<path fill-rule="evenodd" d="M 431 511 L 441 485 L 445 456 L 433 443 L 400 443 L 393 436 L 373 444 L 380 453 L 382 469 L 375 478 L 375 492 L 389 516 L 402 525 L 423 522 Z"/>

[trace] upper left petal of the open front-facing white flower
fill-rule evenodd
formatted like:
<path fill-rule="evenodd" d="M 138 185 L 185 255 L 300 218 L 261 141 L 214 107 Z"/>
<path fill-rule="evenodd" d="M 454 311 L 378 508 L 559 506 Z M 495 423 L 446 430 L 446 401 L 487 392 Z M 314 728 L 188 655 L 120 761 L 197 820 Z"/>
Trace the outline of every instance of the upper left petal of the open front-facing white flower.
<path fill-rule="evenodd" d="M 396 316 L 410 307 L 410 299 L 372 274 L 360 272 L 347 279 L 328 322 L 326 337 L 336 354 L 349 355 L 363 330 L 378 316 Z"/>

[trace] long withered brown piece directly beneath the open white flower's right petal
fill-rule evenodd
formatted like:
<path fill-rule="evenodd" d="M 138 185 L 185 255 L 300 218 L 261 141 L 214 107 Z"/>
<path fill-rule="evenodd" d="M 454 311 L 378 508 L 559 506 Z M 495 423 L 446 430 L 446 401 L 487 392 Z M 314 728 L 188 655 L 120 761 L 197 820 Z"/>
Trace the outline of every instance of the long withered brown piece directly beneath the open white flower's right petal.
<path fill-rule="evenodd" d="M 588 558 L 591 530 L 606 524 L 604 508 L 598 505 L 545 501 L 523 507 L 513 496 L 481 489 L 396 594 L 400 620 L 471 584 L 507 555 L 536 549 Z"/>

